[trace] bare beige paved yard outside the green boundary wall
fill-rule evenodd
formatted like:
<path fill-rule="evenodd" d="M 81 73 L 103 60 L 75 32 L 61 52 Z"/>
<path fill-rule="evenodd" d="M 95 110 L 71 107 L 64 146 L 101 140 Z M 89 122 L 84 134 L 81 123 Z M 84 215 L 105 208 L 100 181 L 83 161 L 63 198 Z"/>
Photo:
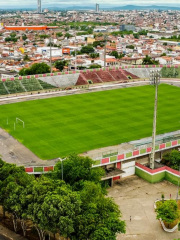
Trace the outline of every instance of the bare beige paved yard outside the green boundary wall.
<path fill-rule="evenodd" d="M 126 234 L 117 240 L 173 240 L 180 238 L 180 232 L 166 233 L 156 220 L 154 201 L 161 198 L 175 199 L 177 186 L 163 181 L 151 184 L 138 176 L 121 179 L 109 189 L 109 197 L 113 197 L 119 205 L 122 219 L 126 221 Z M 131 221 L 130 221 L 131 216 Z"/>

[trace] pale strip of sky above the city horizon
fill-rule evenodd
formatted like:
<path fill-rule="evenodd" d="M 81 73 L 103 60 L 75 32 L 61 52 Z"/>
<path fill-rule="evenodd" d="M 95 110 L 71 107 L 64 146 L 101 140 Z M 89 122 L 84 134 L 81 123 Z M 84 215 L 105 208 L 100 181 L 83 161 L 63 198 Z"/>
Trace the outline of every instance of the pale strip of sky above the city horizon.
<path fill-rule="evenodd" d="M 95 3 L 99 3 L 100 6 L 125 6 L 125 5 L 162 5 L 162 6 L 177 6 L 180 7 L 180 0 L 41 0 L 42 6 L 92 6 Z M 84 3 L 85 2 L 85 3 Z M 35 7 L 37 5 L 37 0 L 0 0 L 0 9 L 9 7 Z"/>

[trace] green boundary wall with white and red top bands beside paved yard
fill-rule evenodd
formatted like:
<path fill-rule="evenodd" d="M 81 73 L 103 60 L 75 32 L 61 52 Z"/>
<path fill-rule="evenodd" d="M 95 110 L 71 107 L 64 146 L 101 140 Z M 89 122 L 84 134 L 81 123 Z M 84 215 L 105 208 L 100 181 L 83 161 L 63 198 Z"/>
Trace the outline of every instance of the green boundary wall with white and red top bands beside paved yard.
<path fill-rule="evenodd" d="M 157 183 L 167 180 L 175 185 L 178 185 L 178 180 L 180 177 L 179 171 L 167 166 L 152 170 L 139 163 L 136 163 L 135 174 L 150 183 Z"/>

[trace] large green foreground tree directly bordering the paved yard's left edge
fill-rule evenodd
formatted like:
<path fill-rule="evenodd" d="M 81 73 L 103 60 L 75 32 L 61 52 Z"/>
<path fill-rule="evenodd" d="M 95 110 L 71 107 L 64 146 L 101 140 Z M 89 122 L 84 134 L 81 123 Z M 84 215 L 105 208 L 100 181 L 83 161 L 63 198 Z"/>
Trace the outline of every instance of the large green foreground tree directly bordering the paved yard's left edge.
<path fill-rule="evenodd" d="M 76 218 L 73 239 L 116 240 L 125 233 L 125 222 L 112 199 L 104 196 L 100 184 L 86 181 L 81 196 L 81 213 Z"/>

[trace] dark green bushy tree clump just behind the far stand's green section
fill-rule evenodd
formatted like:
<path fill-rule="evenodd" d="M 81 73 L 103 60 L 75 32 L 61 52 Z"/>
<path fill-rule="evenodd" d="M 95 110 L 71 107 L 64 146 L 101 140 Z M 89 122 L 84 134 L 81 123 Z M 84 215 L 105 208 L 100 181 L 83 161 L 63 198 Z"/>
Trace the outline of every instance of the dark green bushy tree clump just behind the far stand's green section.
<path fill-rule="evenodd" d="M 42 73 L 50 73 L 50 66 L 46 63 L 34 63 L 30 68 L 22 68 L 19 71 L 19 75 L 34 75 L 34 74 L 42 74 Z"/>

